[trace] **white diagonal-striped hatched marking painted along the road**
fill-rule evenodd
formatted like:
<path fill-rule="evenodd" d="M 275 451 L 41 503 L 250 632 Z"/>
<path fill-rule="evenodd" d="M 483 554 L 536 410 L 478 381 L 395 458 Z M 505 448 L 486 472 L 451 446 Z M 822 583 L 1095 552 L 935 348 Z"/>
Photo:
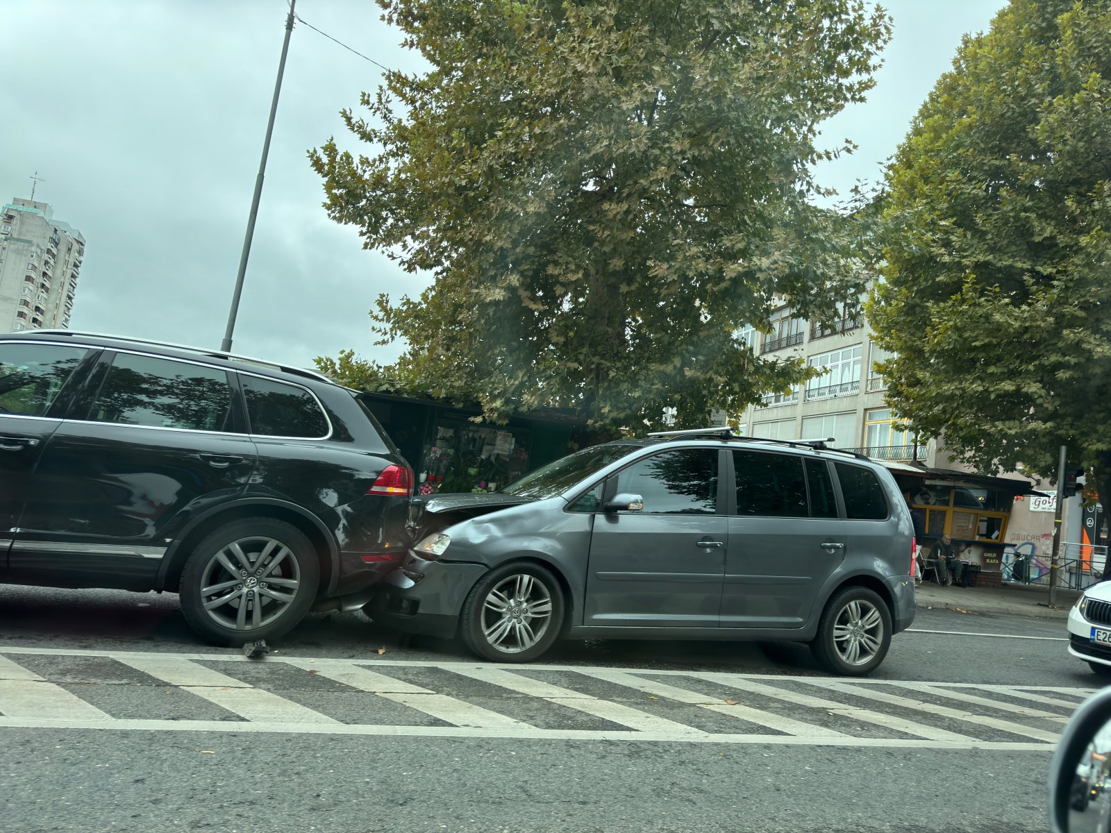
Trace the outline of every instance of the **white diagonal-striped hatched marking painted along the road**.
<path fill-rule="evenodd" d="M 1092 693 L 580 665 L 0 649 L 0 729 L 1050 749 Z"/>

